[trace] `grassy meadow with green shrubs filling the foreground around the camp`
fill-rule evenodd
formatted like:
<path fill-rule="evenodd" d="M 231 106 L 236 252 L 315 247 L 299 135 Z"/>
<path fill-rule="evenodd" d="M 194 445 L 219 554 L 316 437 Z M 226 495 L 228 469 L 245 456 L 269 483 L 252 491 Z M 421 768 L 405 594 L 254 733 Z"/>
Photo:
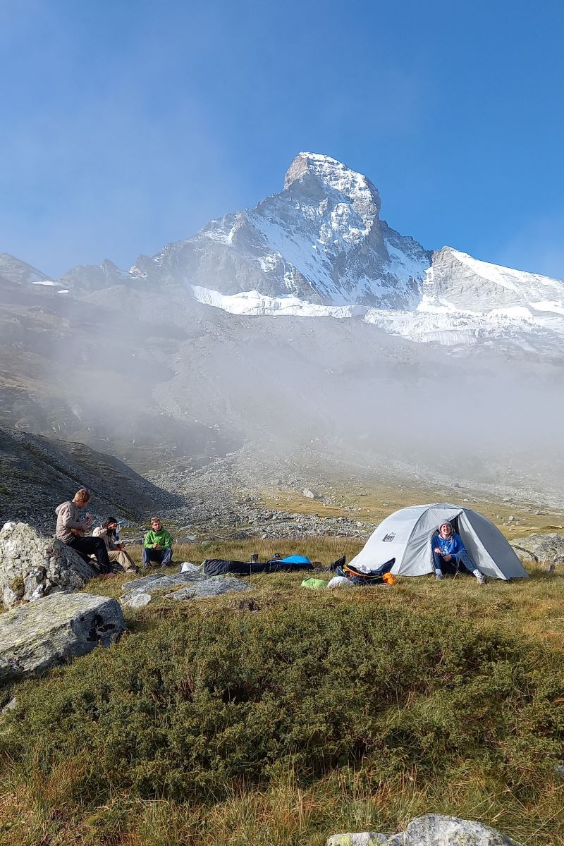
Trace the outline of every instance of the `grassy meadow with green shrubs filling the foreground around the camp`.
<path fill-rule="evenodd" d="M 218 540 L 175 560 L 361 546 Z M 564 846 L 564 573 L 529 572 L 341 591 L 260 574 L 253 593 L 125 609 L 118 644 L 0 693 L 17 697 L 0 843 L 323 846 L 434 811 Z"/>

